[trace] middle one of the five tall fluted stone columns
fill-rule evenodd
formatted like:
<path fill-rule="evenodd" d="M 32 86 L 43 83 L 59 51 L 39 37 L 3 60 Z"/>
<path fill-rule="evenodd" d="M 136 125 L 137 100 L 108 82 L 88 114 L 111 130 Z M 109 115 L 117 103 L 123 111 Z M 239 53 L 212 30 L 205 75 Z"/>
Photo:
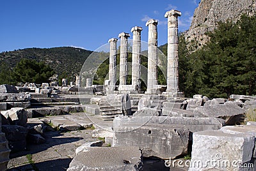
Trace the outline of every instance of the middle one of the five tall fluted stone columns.
<path fill-rule="evenodd" d="M 140 54 L 142 27 L 132 27 L 132 85 L 140 89 Z"/>

